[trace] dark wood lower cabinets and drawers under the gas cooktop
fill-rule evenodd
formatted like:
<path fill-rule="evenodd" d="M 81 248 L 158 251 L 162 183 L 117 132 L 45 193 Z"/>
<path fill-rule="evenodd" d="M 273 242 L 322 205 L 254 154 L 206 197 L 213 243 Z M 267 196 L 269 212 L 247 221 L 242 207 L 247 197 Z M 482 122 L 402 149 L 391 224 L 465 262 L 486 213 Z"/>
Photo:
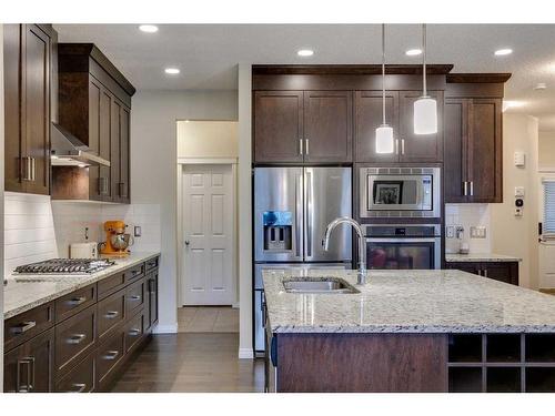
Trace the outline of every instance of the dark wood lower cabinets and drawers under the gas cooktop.
<path fill-rule="evenodd" d="M 8 319 L 4 392 L 108 390 L 158 322 L 158 264 L 149 260 Z"/>

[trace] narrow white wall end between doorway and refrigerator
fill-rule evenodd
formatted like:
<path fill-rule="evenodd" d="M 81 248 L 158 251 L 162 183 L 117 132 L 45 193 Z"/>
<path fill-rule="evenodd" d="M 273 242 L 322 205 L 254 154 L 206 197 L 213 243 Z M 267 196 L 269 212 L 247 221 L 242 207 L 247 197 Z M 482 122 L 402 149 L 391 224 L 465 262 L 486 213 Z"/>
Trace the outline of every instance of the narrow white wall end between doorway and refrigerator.
<path fill-rule="evenodd" d="M 239 64 L 239 357 L 252 358 L 251 65 Z"/>

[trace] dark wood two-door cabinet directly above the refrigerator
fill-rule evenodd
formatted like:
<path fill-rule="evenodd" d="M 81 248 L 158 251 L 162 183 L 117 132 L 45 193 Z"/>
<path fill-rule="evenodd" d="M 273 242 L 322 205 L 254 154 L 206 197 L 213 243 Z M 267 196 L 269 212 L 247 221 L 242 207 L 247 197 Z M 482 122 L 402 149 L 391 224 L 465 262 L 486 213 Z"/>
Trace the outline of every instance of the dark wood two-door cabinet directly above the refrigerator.
<path fill-rule="evenodd" d="M 351 91 L 256 91 L 254 161 L 352 162 Z"/>

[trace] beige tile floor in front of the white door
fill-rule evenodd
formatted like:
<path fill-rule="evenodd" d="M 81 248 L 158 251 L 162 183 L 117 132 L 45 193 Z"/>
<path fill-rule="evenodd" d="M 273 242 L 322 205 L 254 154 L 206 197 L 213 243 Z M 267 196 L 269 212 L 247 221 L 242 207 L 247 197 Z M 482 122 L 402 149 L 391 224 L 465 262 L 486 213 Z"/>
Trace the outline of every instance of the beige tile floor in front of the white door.
<path fill-rule="evenodd" d="M 239 308 L 185 306 L 178 310 L 180 333 L 239 333 Z"/>

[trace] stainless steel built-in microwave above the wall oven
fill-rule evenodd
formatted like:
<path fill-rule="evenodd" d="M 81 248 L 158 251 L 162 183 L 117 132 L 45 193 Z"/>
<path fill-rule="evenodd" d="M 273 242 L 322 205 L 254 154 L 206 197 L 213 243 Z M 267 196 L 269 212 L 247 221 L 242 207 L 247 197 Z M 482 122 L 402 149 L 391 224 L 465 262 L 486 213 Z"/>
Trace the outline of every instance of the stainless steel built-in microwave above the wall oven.
<path fill-rule="evenodd" d="M 361 168 L 360 216 L 441 217 L 440 168 Z"/>

